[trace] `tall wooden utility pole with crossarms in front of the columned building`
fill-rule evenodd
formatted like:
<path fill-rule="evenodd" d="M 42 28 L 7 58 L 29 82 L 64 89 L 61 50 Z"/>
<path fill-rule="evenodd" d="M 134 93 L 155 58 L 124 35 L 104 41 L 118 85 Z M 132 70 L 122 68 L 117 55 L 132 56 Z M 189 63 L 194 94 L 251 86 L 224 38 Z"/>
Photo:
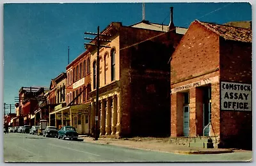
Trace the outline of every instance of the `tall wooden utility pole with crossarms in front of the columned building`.
<path fill-rule="evenodd" d="M 84 43 L 84 45 L 95 45 L 97 46 L 97 68 L 96 68 L 96 110 L 95 110 L 95 130 L 94 130 L 94 136 L 95 140 L 98 140 L 99 138 L 99 133 L 98 133 L 98 123 L 99 123 L 99 82 L 100 82 L 100 59 L 99 59 L 99 54 L 100 54 L 100 47 L 105 47 L 105 48 L 111 48 L 108 46 L 100 45 L 100 41 L 105 41 L 105 42 L 111 42 L 111 40 L 104 40 L 100 39 L 100 36 L 111 36 L 110 34 L 100 34 L 100 27 L 98 26 L 97 28 L 97 33 L 84 33 L 84 34 L 91 34 L 91 35 L 97 35 L 96 40 L 97 44 L 93 43 Z M 84 38 L 85 40 L 95 40 L 93 38 Z"/>

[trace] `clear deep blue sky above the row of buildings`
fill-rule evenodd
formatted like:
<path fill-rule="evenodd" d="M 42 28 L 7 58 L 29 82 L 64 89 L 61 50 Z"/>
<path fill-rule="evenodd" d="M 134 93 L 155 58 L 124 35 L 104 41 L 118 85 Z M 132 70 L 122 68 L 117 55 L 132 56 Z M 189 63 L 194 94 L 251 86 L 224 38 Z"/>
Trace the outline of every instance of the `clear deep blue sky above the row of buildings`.
<path fill-rule="evenodd" d="M 252 20 L 249 3 L 146 3 L 145 19 L 175 26 L 193 20 L 223 24 Z M 3 102 L 14 104 L 20 87 L 49 87 L 51 79 L 84 52 L 84 31 L 111 22 L 129 26 L 142 19 L 142 3 L 4 4 Z"/>

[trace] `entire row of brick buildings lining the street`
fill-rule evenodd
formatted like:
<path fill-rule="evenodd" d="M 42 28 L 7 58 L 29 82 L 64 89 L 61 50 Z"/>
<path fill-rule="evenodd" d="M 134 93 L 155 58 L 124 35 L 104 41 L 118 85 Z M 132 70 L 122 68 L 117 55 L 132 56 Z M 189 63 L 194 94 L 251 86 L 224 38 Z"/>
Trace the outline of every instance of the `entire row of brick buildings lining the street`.
<path fill-rule="evenodd" d="M 111 22 L 100 34 L 98 114 L 95 38 L 47 93 L 36 94 L 46 102 L 37 100 L 35 119 L 39 112 L 51 126 L 93 135 L 98 117 L 101 137 L 212 136 L 226 146 L 252 140 L 250 28 L 198 20 L 175 27 L 171 10 L 169 26 Z"/>

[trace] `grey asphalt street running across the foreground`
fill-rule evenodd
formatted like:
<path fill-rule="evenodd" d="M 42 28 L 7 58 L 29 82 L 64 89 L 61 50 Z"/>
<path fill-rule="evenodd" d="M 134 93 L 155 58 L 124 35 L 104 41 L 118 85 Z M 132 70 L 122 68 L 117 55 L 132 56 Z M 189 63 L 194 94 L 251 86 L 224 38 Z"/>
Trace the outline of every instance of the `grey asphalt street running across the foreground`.
<path fill-rule="evenodd" d="M 216 155 L 180 155 L 26 133 L 3 135 L 4 162 L 245 162 L 252 151 Z"/>

